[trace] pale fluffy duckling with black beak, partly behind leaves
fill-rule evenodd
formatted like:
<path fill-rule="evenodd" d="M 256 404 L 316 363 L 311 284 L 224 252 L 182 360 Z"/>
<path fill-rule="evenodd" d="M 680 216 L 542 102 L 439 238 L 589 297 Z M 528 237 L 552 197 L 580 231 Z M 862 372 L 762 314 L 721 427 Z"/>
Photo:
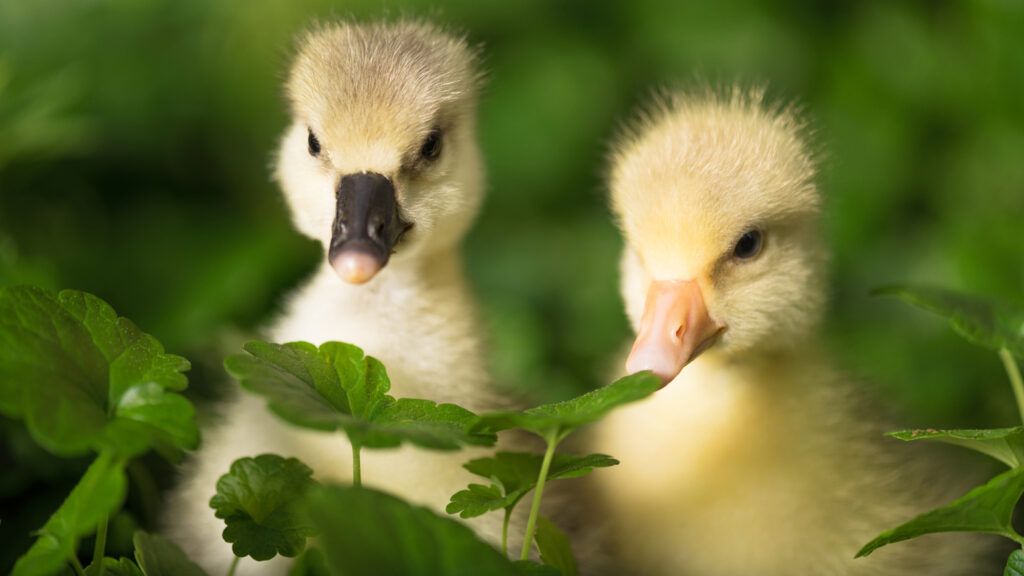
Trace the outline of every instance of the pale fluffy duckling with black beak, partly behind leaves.
<path fill-rule="evenodd" d="M 302 38 L 275 175 L 296 228 L 327 258 L 268 334 L 355 343 L 387 366 L 393 396 L 474 411 L 499 407 L 458 253 L 483 196 L 477 59 L 464 39 L 422 23 L 337 24 Z M 208 506 L 216 481 L 236 458 L 264 452 L 296 456 L 322 480 L 351 478 L 344 437 L 289 426 L 263 400 L 233 395 L 168 506 L 167 532 L 211 574 L 232 560 Z M 365 451 L 362 479 L 440 511 L 472 481 L 460 466 L 469 457 Z M 475 528 L 497 540 L 501 519 Z M 286 570 L 274 561 L 241 566 Z"/>

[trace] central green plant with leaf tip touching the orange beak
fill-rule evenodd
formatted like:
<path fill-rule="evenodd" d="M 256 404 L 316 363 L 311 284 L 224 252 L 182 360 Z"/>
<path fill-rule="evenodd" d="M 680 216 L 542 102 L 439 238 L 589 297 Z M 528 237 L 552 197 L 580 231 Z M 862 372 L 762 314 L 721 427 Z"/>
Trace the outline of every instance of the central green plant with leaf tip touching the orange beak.
<path fill-rule="evenodd" d="M 492 480 L 493 484 L 470 485 L 454 495 L 447 507 L 447 511 L 459 513 L 462 518 L 504 509 L 502 549 L 507 556 L 512 510 L 532 490 L 534 501 L 520 562 L 527 562 L 530 545 L 535 541 L 545 483 L 584 476 L 595 467 L 617 463 L 617 460 L 603 454 L 556 458 L 558 444 L 580 426 L 600 419 L 617 406 L 650 395 L 660 385 L 651 374 L 637 374 L 566 402 L 522 412 L 492 412 L 478 417 L 453 404 L 395 400 L 388 396 L 390 381 L 384 366 L 351 344 L 327 342 L 317 347 L 306 342 L 274 344 L 255 341 L 245 347 L 249 354 L 236 355 L 225 361 L 227 371 L 239 379 L 244 388 L 266 398 L 270 409 L 284 420 L 311 429 L 343 431 L 352 447 L 352 485 L 355 488 L 361 486 L 359 454 L 364 448 L 393 448 L 406 442 L 435 450 L 454 450 L 463 445 L 489 446 L 497 440 L 498 431 L 510 428 L 523 429 L 544 439 L 547 451 L 543 456 L 499 452 L 492 458 L 479 458 L 465 464 L 469 471 Z M 258 492 L 258 487 L 252 488 L 253 492 Z M 345 498 L 358 496 L 347 495 Z M 350 535 L 370 545 L 370 536 L 354 530 L 357 525 L 339 526 L 353 527 Z M 437 526 L 447 525 L 440 523 Z M 574 566 L 569 562 L 571 551 L 567 539 L 560 537 L 550 523 L 545 527 L 543 537 L 538 538 L 542 559 L 556 559 L 551 562 L 557 563 L 563 570 Z M 328 532 L 325 531 L 322 538 L 328 538 Z M 225 532 L 225 538 L 227 536 Z M 243 553 L 238 542 L 234 549 L 236 553 Z M 367 550 L 372 548 L 360 549 L 361 553 L 368 553 Z M 272 556 L 253 558 L 267 560 Z M 330 559 L 331 553 L 327 557 Z M 384 562 L 385 559 L 378 560 Z M 339 570 L 338 566 L 335 569 Z"/>

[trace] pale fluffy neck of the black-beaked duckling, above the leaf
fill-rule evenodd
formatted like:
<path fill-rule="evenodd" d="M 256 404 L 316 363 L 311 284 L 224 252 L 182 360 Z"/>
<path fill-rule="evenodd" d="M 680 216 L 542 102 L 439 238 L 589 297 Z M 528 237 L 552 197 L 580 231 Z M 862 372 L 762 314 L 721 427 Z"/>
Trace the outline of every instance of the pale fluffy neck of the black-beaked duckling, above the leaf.
<path fill-rule="evenodd" d="M 473 408 L 484 369 L 475 304 L 455 251 L 390 262 L 361 286 L 327 263 L 298 291 L 271 330 L 279 341 L 351 342 L 381 360 L 396 397 Z"/>

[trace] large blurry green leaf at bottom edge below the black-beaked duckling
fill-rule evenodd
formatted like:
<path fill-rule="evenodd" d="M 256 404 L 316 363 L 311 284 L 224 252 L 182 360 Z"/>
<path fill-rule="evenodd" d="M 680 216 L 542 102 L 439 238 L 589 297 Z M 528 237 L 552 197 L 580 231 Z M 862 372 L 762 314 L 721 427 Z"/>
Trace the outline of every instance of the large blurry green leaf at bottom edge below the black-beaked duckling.
<path fill-rule="evenodd" d="M 306 511 L 340 576 L 518 574 L 498 550 L 462 524 L 368 488 L 310 491 Z"/>

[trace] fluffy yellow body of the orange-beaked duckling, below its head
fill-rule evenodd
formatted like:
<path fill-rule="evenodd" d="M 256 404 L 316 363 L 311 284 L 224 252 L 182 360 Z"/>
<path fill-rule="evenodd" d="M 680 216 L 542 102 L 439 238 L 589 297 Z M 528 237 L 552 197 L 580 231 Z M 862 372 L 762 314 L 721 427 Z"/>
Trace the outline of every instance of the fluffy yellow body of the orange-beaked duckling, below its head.
<path fill-rule="evenodd" d="M 653 398 L 612 414 L 595 439 L 623 460 L 594 479 L 615 573 L 987 574 L 988 548 L 963 534 L 854 560 L 941 492 L 928 487 L 926 466 L 884 445 L 877 420 L 813 352 L 695 360 Z"/>

